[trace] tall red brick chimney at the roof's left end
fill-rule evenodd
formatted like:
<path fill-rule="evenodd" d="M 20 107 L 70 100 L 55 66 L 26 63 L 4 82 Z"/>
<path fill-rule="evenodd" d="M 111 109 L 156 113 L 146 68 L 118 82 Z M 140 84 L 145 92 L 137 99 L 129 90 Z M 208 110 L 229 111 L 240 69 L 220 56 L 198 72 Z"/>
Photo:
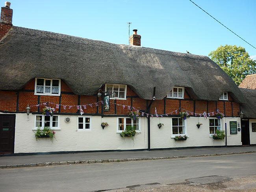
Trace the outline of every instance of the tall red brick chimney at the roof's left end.
<path fill-rule="evenodd" d="M 1 17 L 0 17 L 0 41 L 11 29 L 12 20 L 13 20 L 13 9 L 10 9 L 11 3 L 6 2 L 5 7 L 1 8 Z"/>

